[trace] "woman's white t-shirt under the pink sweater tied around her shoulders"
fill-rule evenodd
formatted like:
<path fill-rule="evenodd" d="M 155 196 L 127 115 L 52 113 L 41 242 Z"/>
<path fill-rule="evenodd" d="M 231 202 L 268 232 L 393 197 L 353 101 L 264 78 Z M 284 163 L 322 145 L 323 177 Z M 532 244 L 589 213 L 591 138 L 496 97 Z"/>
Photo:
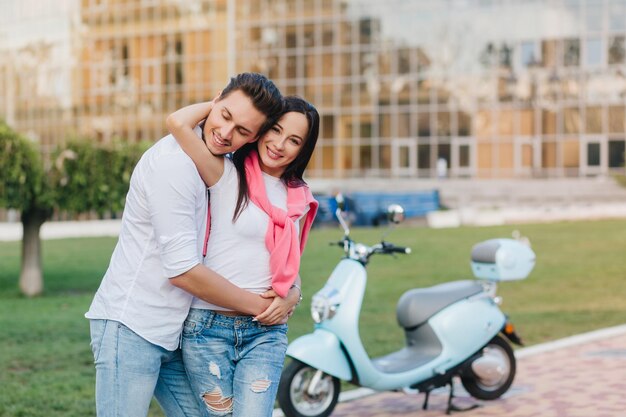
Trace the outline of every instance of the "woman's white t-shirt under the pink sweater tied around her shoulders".
<path fill-rule="evenodd" d="M 287 187 L 276 177 L 263 173 L 269 201 L 283 210 L 287 208 Z M 224 173 L 210 187 L 211 233 L 204 265 L 233 284 L 260 294 L 271 287 L 270 253 L 265 245 L 269 216 L 251 201 L 233 223 L 239 190 L 237 170 L 224 159 Z M 299 224 L 296 223 L 296 229 Z M 193 308 L 227 310 L 224 307 L 194 298 Z"/>

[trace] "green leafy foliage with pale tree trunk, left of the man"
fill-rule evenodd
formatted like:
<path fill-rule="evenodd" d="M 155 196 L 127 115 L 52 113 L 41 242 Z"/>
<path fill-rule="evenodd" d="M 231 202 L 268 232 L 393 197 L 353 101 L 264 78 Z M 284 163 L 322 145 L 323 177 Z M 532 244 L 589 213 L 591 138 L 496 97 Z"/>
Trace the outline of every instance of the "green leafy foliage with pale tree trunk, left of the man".
<path fill-rule="evenodd" d="M 57 211 L 117 213 L 124 207 L 132 170 L 148 144 L 107 146 L 72 141 L 44 161 L 35 145 L 0 122 L 0 207 L 20 212 L 22 265 L 19 287 L 43 291 L 40 231 Z"/>

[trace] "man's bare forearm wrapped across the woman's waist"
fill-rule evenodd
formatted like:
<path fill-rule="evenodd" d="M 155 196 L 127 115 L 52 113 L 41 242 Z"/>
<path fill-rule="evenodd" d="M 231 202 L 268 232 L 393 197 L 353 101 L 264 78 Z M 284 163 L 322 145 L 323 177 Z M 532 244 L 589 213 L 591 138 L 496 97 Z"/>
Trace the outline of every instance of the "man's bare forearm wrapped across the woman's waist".
<path fill-rule="evenodd" d="M 171 278 L 170 283 L 211 304 L 253 316 L 265 311 L 272 301 L 239 288 L 201 264 Z"/>

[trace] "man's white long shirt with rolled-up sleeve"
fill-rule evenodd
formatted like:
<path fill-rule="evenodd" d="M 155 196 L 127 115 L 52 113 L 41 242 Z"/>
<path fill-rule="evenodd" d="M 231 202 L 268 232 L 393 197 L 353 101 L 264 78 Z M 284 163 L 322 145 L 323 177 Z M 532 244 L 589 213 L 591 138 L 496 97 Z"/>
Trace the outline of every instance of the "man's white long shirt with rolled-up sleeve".
<path fill-rule="evenodd" d="M 200 263 L 206 215 L 204 182 L 174 137 L 166 136 L 133 171 L 119 240 L 85 317 L 119 321 L 175 350 L 193 296 L 169 278 Z"/>

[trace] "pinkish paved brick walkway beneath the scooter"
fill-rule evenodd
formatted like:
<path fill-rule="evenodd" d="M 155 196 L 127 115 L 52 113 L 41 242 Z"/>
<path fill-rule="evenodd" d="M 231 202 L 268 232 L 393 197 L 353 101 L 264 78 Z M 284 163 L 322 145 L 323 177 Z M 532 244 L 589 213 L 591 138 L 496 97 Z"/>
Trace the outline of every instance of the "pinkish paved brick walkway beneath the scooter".
<path fill-rule="evenodd" d="M 626 417 L 626 326 L 522 349 L 511 390 L 477 401 L 455 388 L 457 406 L 480 407 L 459 417 Z M 460 386 L 460 384 L 459 384 Z M 447 391 L 382 393 L 341 403 L 332 417 L 445 416 Z"/>

